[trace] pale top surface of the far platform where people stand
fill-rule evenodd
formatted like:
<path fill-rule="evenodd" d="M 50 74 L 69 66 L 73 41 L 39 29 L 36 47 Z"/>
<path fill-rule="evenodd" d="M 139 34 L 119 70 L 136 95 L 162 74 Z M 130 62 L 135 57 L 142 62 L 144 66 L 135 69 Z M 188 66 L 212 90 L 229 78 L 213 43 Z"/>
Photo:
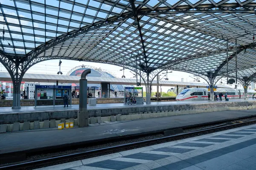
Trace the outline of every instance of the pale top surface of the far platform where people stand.
<path fill-rule="evenodd" d="M 254 99 L 255 100 L 255 99 Z M 244 102 L 253 101 L 253 99 L 230 99 L 228 102 Z M 127 107 L 147 107 L 151 105 L 186 105 L 186 104 L 201 104 L 201 103 L 215 103 L 215 102 L 227 102 L 227 101 L 208 101 L 208 100 L 193 100 L 193 101 L 173 101 L 173 102 L 151 102 L 150 104 L 138 104 L 138 105 L 125 105 L 123 103 L 104 103 L 97 104 L 94 106 L 87 105 L 87 109 L 100 109 L 100 108 L 127 108 Z M 12 109 L 12 107 L 2 107 L 0 114 L 6 113 L 32 113 L 32 112 L 42 112 L 42 111 L 63 111 L 63 110 L 78 110 L 79 105 L 72 105 L 68 108 L 63 108 L 63 106 L 56 105 L 53 106 L 22 106 L 20 109 Z"/>

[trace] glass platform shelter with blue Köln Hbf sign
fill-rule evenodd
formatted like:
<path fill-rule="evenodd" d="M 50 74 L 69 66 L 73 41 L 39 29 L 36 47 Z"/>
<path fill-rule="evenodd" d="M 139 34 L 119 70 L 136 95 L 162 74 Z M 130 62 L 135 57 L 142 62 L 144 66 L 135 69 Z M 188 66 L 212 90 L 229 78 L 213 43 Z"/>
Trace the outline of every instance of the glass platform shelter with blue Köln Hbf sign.
<path fill-rule="evenodd" d="M 35 107 L 37 102 L 50 102 L 55 106 L 56 102 L 63 103 L 63 95 L 67 92 L 72 105 L 72 86 L 71 85 L 35 85 Z M 48 103 L 49 104 L 49 103 Z"/>

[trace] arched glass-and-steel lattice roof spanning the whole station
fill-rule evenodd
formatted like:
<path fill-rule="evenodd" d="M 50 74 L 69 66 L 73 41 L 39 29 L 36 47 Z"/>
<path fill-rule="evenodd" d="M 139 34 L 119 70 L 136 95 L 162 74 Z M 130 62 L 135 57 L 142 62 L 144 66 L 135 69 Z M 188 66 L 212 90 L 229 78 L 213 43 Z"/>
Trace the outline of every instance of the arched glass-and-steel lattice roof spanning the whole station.
<path fill-rule="evenodd" d="M 237 51 L 244 79 L 256 73 L 255 7 L 256 0 L 0 0 L 0 52 L 234 77 Z"/>

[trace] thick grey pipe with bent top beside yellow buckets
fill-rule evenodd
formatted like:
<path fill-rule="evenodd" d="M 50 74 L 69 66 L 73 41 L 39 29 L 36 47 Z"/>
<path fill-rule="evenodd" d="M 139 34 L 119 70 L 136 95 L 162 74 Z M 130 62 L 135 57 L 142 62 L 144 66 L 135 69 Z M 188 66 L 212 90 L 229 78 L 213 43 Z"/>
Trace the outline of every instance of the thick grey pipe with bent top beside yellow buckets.
<path fill-rule="evenodd" d="M 79 113 L 78 113 L 78 126 L 86 127 L 88 126 L 89 115 L 87 113 L 87 74 L 90 74 L 91 70 L 86 69 L 81 74 L 81 79 L 79 80 L 80 93 L 79 93 Z"/>

